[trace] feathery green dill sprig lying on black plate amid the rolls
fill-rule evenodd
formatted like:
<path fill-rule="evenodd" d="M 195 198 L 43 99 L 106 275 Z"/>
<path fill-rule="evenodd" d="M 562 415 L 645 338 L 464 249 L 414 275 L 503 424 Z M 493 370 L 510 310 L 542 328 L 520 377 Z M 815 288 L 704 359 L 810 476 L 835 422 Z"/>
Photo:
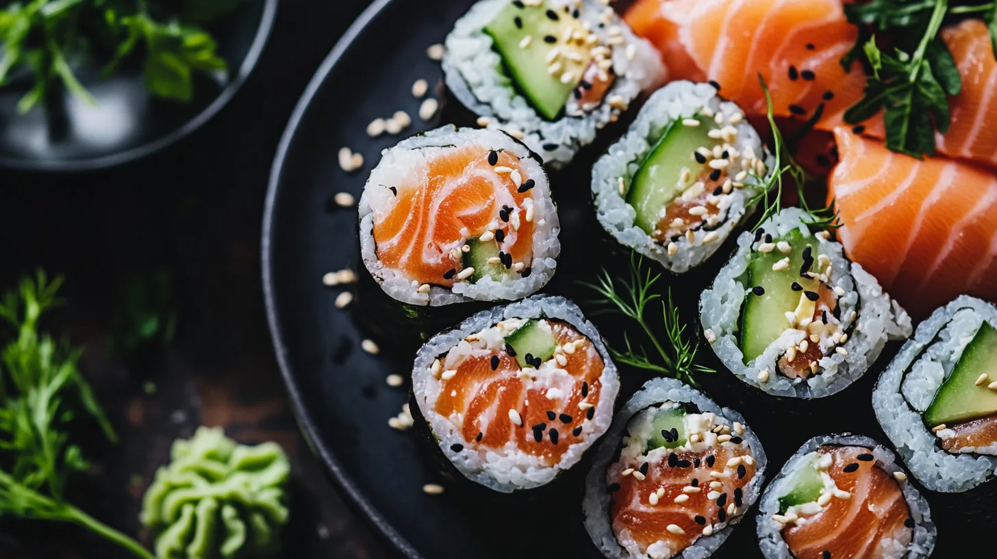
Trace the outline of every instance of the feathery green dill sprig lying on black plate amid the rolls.
<path fill-rule="evenodd" d="M 602 295 L 600 303 L 637 322 L 660 357 L 660 360 L 652 359 L 643 346 L 638 345 L 635 348 L 624 332 L 626 349 L 619 351 L 609 347 L 613 359 L 644 370 L 674 376 L 695 386 L 697 385 L 695 373 L 715 371 L 695 362 L 699 339 L 696 336 L 693 336 L 693 339 L 686 336 L 687 324 L 682 322 L 679 310 L 672 301 L 671 289 L 668 289 L 667 299 L 654 291 L 653 287 L 658 279 L 661 279 L 661 274 L 651 272 L 650 267 L 644 266 L 644 258 L 632 253 L 629 279 L 613 279 L 605 269 L 602 269 L 598 283 L 583 284 Z M 648 305 L 659 299 L 664 342 L 659 339 L 659 335 L 645 318 Z"/>

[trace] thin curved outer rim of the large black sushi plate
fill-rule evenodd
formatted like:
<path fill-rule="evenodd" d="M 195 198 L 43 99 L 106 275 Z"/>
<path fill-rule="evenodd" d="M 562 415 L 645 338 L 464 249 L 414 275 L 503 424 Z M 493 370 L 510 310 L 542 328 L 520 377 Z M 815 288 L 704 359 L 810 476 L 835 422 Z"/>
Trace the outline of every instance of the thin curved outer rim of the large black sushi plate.
<path fill-rule="evenodd" d="M 291 402 L 291 408 L 298 421 L 298 426 L 305 436 L 309 448 L 316 454 L 322 462 L 326 476 L 331 479 L 333 485 L 341 496 L 346 497 L 346 502 L 367 521 L 367 524 L 375 529 L 378 535 L 387 540 L 395 551 L 410 559 L 422 559 L 422 555 L 416 550 L 411 542 L 403 536 L 388 520 L 378 512 L 375 507 L 360 492 L 354 481 L 345 473 L 339 459 L 326 447 L 319 437 L 318 428 L 312 418 L 311 413 L 305 406 L 301 389 L 297 384 L 291 365 L 287 358 L 287 347 L 283 341 L 283 335 L 277 324 L 277 302 L 272 275 L 272 234 L 274 209 L 277 203 L 277 190 L 284 172 L 284 164 L 291 143 L 294 141 L 301 121 L 311 107 L 312 101 L 318 90 L 325 83 L 329 74 L 339 64 L 346 54 L 346 51 L 367 28 L 367 26 L 384 11 L 395 0 L 374 0 L 360 14 L 357 19 L 350 24 L 343 36 L 336 42 L 336 46 L 326 56 L 325 60 L 318 67 L 315 75 L 302 93 L 291 113 L 284 133 L 277 145 L 277 153 L 270 168 L 270 178 L 266 190 L 266 198 L 263 206 L 263 227 L 260 240 L 260 265 L 263 279 L 263 299 L 266 307 L 266 321 L 270 330 L 270 339 L 273 343 L 274 354 L 277 358 L 277 365 L 280 368 L 280 375 L 284 380 L 284 387 Z"/>

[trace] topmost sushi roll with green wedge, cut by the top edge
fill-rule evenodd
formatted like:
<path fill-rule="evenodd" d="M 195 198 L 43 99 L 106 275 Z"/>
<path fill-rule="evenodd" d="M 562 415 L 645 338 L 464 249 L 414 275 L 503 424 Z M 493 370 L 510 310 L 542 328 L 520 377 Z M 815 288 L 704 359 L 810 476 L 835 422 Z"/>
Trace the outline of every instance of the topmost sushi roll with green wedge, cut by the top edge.
<path fill-rule="evenodd" d="M 599 0 L 483 0 L 447 37 L 447 87 L 479 124 L 567 164 L 664 68 Z"/>

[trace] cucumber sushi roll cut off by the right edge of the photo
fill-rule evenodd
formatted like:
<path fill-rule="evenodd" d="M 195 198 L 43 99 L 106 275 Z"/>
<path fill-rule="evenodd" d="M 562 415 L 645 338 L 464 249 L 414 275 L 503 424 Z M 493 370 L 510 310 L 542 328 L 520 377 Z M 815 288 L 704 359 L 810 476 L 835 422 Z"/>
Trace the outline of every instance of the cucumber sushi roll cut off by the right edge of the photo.
<path fill-rule="evenodd" d="M 967 491 L 993 477 L 997 307 L 960 296 L 935 310 L 879 377 L 872 406 L 928 489 Z"/>

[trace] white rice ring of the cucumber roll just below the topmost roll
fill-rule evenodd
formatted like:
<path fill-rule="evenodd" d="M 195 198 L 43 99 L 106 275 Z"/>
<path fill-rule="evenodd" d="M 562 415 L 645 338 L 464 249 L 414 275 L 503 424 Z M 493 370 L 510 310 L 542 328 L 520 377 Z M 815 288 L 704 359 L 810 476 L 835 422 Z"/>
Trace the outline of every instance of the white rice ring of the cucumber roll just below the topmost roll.
<path fill-rule="evenodd" d="M 754 173 L 744 180 L 744 187 L 733 190 L 721 199 L 720 225 L 695 231 L 693 239 L 679 237 L 674 243 L 678 250 L 669 255 L 662 243 L 655 241 L 644 230 L 634 225 L 636 211 L 627 204 L 620 192 L 620 179 L 629 185 L 644 159 L 658 139 L 673 122 L 692 118 L 708 109 L 708 114 L 722 114 L 726 119 L 733 115 L 744 116 L 734 103 L 722 101 L 710 84 L 673 82 L 658 90 L 640 110 L 637 120 L 623 138 L 612 145 L 592 168 L 592 196 L 596 215 L 602 227 L 621 245 L 661 263 L 667 270 L 681 274 L 709 259 L 745 217 L 754 208 L 750 202 L 760 191 L 762 181 Z M 762 157 L 767 169 L 775 159 L 768 154 L 758 133 L 747 120 L 735 125 L 738 131 L 735 148 L 741 152 L 754 152 Z M 691 155 L 691 154 L 690 154 Z M 732 158 L 727 174 L 734 177 L 742 171 L 743 160 Z M 714 233 L 707 240 L 707 235 Z"/>

